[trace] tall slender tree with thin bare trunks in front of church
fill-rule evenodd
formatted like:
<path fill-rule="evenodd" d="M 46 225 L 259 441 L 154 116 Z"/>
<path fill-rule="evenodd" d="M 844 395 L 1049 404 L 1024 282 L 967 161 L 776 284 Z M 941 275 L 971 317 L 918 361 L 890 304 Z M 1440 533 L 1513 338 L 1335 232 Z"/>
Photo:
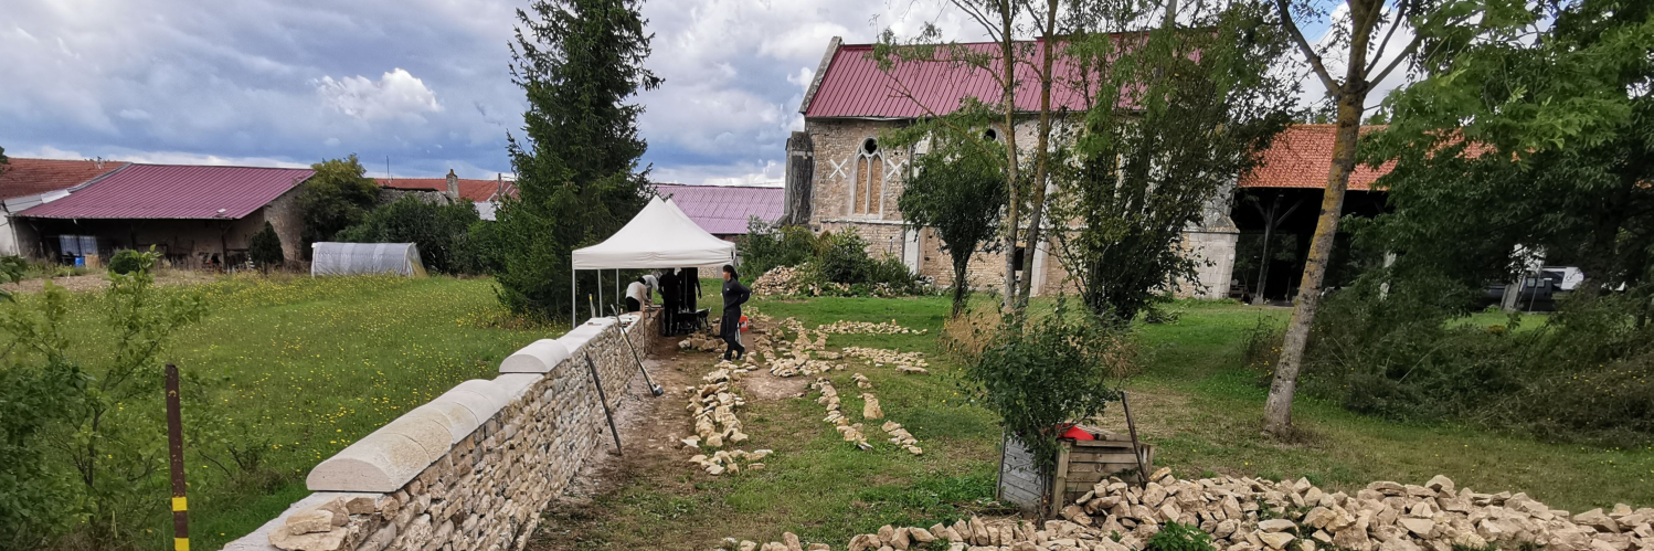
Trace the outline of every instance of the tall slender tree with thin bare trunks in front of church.
<path fill-rule="evenodd" d="M 994 151 L 1004 159 L 1002 179 L 1006 185 L 1006 215 L 1001 222 L 1001 248 L 1006 252 L 1006 280 L 1002 286 L 1002 308 L 1021 319 L 1027 306 L 1027 295 L 1032 290 L 1030 271 L 1034 268 L 1034 248 L 1039 247 L 1042 222 L 1045 215 L 1047 187 L 1050 184 L 1050 162 L 1062 149 L 1054 142 L 1060 114 L 1052 106 L 1052 86 L 1059 81 L 1054 73 L 1054 53 L 1062 36 L 1059 28 L 1064 2 L 1017 2 L 1017 0 L 949 0 L 954 8 L 966 13 L 992 40 L 991 48 L 964 45 L 958 41 L 939 43 L 941 30 L 925 25 L 925 30 L 911 40 L 898 43 L 893 31 L 885 31 L 873 56 L 887 71 L 898 63 L 948 63 L 969 66 L 974 71 L 991 74 L 997 84 L 999 98 L 964 98 L 961 109 L 951 113 L 933 111 L 931 106 L 918 101 L 910 84 L 896 79 L 898 96 L 913 101 L 926 111 L 926 117 L 938 127 L 946 127 L 958 136 L 978 134 L 986 116 L 996 117 L 994 126 L 1004 136 L 1004 147 Z M 1037 63 L 1035 63 L 1037 61 Z M 1019 74 L 1032 74 L 1032 83 Z M 1017 94 L 1024 86 L 1039 86 L 1039 106 L 1027 109 L 1017 106 Z M 948 106 L 954 108 L 954 106 Z M 1034 147 L 1022 151 L 1017 146 L 1017 126 L 1034 119 Z M 1060 139 L 1059 139 L 1060 141 Z M 987 152 L 987 142 L 973 139 L 976 154 Z M 1027 156 L 1027 157 L 1024 157 Z M 1017 256 L 1017 245 L 1024 243 L 1027 253 Z M 1017 258 L 1022 263 L 1017 263 Z M 1021 273 L 1021 276 L 1019 276 Z"/>

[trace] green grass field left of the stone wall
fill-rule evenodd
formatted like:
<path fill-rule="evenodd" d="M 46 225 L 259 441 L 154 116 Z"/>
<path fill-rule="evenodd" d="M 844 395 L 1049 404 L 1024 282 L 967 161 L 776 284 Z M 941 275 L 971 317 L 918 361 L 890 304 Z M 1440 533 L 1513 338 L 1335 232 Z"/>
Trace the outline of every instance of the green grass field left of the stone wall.
<path fill-rule="evenodd" d="M 197 549 L 275 518 L 308 493 L 304 475 L 319 460 L 461 381 L 491 379 L 504 354 L 552 334 L 498 328 L 490 280 L 235 278 L 165 290 L 203 293 L 210 306 L 164 354 L 185 374 L 185 430 L 263 452 L 261 475 L 232 478 L 238 467 L 223 447 L 190 438 Z M 99 296 L 76 293 L 76 349 L 109 343 Z M 164 453 L 165 434 L 154 437 Z M 170 549 L 170 516 L 154 518 L 137 543 Z"/>

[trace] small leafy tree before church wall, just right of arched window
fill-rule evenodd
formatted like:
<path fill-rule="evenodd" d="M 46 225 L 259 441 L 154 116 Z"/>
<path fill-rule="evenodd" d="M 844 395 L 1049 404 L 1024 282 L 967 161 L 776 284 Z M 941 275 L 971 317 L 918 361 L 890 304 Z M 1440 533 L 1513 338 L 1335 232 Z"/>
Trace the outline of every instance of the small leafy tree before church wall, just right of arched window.
<path fill-rule="evenodd" d="M 908 223 L 935 228 L 941 250 L 951 256 L 953 316 L 964 309 L 971 291 L 971 256 L 982 245 L 992 245 L 1006 207 L 1006 185 L 996 157 L 978 154 L 958 136 L 936 132 L 930 152 L 915 161 L 918 170 L 896 200 Z"/>

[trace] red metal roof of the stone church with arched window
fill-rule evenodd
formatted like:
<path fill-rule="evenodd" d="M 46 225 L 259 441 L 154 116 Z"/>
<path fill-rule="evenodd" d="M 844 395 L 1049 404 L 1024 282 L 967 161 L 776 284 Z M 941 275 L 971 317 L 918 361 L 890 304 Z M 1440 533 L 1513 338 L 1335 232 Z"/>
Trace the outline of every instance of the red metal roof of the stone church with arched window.
<path fill-rule="evenodd" d="M 999 43 L 963 45 L 979 53 L 997 53 Z M 1044 60 L 1039 41 L 1019 41 L 1017 55 L 1027 63 L 1017 63 L 1017 111 L 1039 111 L 1039 78 L 1035 68 Z M 815 94 L 804 106 L 805 117 L 892 117 L 908 119 L 953 113 L 964 98 L 999 103 L 999 79 L 964 63 L 951 61 L 900 61 L 887 73 L 870 56 L 873 45 L 842 45 L 834 51 Z M 938 50 L 941 55 L 941 50 Z M 1067 56 L 1052 61 L 1052 109 L 1083 111 L 1085 93 L 1072 83 L 1080 81 L 1078 68 Z"/>

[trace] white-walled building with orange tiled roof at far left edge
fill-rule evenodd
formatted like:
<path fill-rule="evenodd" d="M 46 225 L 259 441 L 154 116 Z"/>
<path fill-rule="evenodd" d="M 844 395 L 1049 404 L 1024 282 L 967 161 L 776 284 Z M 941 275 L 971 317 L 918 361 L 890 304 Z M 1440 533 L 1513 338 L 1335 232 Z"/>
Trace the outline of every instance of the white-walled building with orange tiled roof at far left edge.
<path fill-rule="evenodd" d="M 69 192 L 124 169 L 126 162 L 18 159 L 0 165 L 0 255 L 22 255 L 30 242 L 20 242 L 12 213 L 69 197 Z"/>

